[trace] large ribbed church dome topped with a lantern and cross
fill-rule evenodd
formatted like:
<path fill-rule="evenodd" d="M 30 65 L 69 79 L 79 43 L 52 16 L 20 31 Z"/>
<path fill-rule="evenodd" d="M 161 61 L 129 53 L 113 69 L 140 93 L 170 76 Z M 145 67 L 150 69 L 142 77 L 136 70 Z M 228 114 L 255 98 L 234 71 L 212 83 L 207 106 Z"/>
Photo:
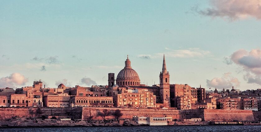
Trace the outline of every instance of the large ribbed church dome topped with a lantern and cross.
<path fill-rule="evenodd" d="M 119 86 L 140 86 L 140 77 L 138 73 L 131 68 L 131 61 L 127 56 L 125 67 L 118 73 L 116 84 Z"/>

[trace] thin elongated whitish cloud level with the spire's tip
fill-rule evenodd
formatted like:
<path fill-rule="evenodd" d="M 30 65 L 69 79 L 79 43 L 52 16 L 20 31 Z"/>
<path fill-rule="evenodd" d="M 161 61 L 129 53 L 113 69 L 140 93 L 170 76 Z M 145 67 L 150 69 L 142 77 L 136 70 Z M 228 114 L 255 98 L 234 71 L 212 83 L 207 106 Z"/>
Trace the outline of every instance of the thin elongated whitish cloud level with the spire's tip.
<path fill-rule="evenodd" d="M 189 49 L 170 50 L 169 52 L 165 52 L 164 54 L 167 57 L 189 58 L 189 57 L 204 57 L 210 54 L 210 52 L 201 50 L 199 48 L 189 48 Z M 163 53 L 158 53 L 157 55 L 163 56 Z"/>

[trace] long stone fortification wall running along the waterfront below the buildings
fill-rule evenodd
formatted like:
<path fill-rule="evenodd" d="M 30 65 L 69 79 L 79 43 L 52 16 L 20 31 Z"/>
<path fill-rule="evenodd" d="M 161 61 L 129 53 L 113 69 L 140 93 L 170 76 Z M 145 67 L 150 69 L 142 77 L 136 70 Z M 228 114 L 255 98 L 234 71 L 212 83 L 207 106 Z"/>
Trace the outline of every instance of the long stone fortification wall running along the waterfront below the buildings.
<path fill-rule="evenodd" d="M 102 107 L 75 107 L 75 108 L 41 108 L 43 116 L 61 116 L 74 119 L 102 119 L 97 112 L 103 109 L 115 111 L 120 109 L 123 116 L 120 119 L 132 119 L 133 116 L 172 117 L 172 119 L 202 118 L 202 121 L 261 121 L 261 112 L 250 110 L 175 110 L 175 109 L 138 109 L 138 108 L 102 108 Z M 14 116 L 29 119 L 37 118 L 35 107 L 0 107 L 0 120 L 8 120 Z M 107 119 L 115 119 L 107 116 Z"/>

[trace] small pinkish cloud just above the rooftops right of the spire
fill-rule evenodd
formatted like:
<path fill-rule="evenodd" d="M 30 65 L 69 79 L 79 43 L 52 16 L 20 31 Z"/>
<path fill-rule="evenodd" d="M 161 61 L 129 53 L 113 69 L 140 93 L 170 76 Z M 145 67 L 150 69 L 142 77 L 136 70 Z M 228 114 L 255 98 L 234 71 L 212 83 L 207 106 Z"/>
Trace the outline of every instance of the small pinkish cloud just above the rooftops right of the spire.
<path fill-rule="evenodd" d="M 237 78 L 231 76 L 231 72 L 225 73 L 221 78 L 215 77 L 212 80 L 207 80 L 208 87 L 231 88 L 232 86 L 240 86 Z"/>

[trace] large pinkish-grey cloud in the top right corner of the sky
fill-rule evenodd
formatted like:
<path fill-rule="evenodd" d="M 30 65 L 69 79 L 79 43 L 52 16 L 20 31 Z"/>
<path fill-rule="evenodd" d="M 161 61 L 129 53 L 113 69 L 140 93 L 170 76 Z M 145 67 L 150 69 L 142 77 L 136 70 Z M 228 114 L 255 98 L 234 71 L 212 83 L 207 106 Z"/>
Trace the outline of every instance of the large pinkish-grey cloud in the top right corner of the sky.
<path fill-rule="evenodd" d="M 261 19 L 260 0 L 210 0 L 210 6 L 210 8 L 204 10 L 199 10 L 196 6 L 192 10 L 213 18 L 239 20 L 254 17 L 258 20 Z"/>

